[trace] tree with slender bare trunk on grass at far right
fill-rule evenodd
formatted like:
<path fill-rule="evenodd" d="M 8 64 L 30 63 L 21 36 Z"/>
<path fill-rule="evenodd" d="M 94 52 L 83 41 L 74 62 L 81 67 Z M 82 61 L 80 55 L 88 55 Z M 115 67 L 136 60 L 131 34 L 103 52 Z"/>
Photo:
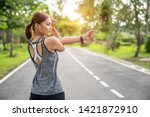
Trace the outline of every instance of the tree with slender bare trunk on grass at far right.
<path fill-rule="evenodd" d="M 145 8 L 145 4 L 145 0 L 113 0 L 113 5 L 116 6 L 115 12 L 113 13 L 113 24 L 114 21 L 118 22 L 118 26 L 121 29 L 135 34 L 136 51 L 134 57 L 138 57 L 140 46 L 143 41 L 142 33 L 145 31 L 145 24 L 148 25 L 148 19 L 146 21 L 144 19 L 144 15 L 149 14 L 145 13 L 145 11 L 148 12 Z"/>

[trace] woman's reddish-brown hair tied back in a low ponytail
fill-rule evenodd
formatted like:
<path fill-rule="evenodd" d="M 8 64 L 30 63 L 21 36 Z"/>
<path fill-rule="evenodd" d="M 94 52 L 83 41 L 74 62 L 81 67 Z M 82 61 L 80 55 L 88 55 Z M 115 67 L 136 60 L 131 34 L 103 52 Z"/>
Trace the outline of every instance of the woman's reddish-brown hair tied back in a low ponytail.
<path fill-rule="evenodd" d="M 33 36 L 33 31 L 35 31 L 35 23 L 40 24 L 44 20 L 49 18 L 49 15 L 44 13 L 44 12 L 36 12 L 31 20 L 31 23 L 27 25 L 26 30 L 25 30 L 25 36 L 27 39 L 31 39 Z"/>

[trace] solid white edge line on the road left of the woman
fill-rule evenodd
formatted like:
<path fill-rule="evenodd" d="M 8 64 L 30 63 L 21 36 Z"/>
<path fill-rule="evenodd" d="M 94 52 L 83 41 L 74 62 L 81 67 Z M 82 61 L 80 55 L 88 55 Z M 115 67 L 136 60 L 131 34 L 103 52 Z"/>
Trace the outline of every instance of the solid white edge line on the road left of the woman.
<path fill-rule="evenodd" d="M 0 80 L 0 84 L 3 83 L 5 80 L 7 80 L 8 78 L 10 78 L 11 75 L 13 75 L 15 72 L 17 72 L 20 68 L 22 68 L 23 66 L 25 66 L 28 62 L 30 61 L 30 59 L 26 60 L 23 64 L 21 64 L 20 66 L 18 66 L 16 69 L 14 69 L 13 71 L 11 71 L 9 74 L 7 74 L 4 78 L 2 78 L 2 80 Z"/>

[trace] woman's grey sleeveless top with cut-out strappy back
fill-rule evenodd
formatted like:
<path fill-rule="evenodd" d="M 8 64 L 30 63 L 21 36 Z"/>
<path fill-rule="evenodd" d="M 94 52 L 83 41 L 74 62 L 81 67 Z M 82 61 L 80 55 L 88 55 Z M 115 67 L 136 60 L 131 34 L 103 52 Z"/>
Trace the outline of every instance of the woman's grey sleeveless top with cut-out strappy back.
<path fill-rule="evenodd" d="M 64 92 L 59 76 L 57 75 L 58 54 L 50 52 L 44 44 L 45 37 L 36 42 L 29 40 L 28 51 L 31 60 L 36 68 L 36 73 L 32 82 L 31 93 L 38 95 L 53 95 Z M 41 43 L 42 56 L 38 53 L 37 44 Z M 34 57 L 31 56 L 29 47 L 34 50 Z M 36 59 L 40 63 L 36 63 Z"/>

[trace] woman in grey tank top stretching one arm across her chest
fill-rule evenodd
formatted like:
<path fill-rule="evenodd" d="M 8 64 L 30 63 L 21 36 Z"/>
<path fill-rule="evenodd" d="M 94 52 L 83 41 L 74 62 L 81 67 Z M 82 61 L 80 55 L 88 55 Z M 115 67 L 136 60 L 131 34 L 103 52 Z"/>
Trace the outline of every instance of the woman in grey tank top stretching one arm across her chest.
<path fill-rule="evenodd" d="M 49 36 L 50 32 L 53 37 Z M 65 44 L 92 39 L 94 31 L 81 37 L 61 37 L 55 29 L 54 20 L 44 12 L 37 12 L 25 34 L 29 39 L 28 51 L 36 67 L 30 100 L 64 100 L 64 90 L 57 75 L 57 51 L 63 52 Z"/>

